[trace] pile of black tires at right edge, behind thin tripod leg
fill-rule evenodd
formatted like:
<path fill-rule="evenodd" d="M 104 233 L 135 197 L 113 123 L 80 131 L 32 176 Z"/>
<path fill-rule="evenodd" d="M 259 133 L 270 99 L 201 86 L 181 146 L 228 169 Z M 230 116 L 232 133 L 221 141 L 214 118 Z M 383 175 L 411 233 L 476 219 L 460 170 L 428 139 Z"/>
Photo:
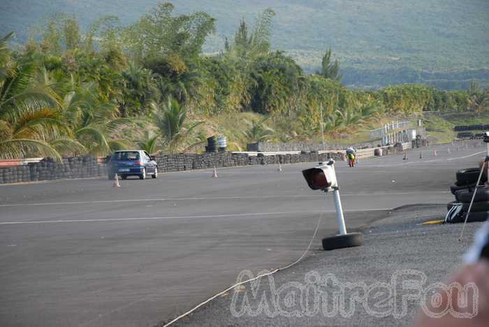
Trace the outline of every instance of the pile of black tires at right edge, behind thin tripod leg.
<path fill-rule="evenodd" d="M 481 173 L 481 168 L 467 168 L 458 170 L 457 181 L 450 187 L 455 201 L 448 203 L 447 209 L 450 211 L 454 206 L 461 208 L 458 215 L 448 219 L 446 222 L 459 223 L 465 221 L 469 206 L 476 195 L 467 221 L 486 221 L 489 218 L 489 187 L 485 184 L 488 180 L 486 172 L 483 173 L 479 187 L 476 187 L 477 180 Z"/>

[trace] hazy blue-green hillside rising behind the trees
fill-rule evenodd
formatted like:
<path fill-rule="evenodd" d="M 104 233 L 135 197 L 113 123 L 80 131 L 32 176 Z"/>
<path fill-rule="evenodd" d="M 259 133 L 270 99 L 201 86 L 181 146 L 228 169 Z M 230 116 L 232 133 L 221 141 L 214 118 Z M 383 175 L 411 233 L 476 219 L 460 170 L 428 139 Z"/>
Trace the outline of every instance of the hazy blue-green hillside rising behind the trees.
<path fill-rule="evenodd" d="M 157 0 L 3 0 L 0 31 L 29 27 L 62 10 L 87 26 L 101 15 L 135 22 Z M 332 47 L 342 62 L 344 83 L 379 87 L 423 82 L 444 89 L 489 82 L 489 1 L 487 0 L 175 0 L 177 13 L 205 10 L 217 19 L 217 34 L 205 50 L 224 47 L 240 18 L 252 22 L 264 8 L 277 13 L 272 47 L 286 50 L 306 71 Z M 29 10 L 26 10 L 29 8 Z"/>

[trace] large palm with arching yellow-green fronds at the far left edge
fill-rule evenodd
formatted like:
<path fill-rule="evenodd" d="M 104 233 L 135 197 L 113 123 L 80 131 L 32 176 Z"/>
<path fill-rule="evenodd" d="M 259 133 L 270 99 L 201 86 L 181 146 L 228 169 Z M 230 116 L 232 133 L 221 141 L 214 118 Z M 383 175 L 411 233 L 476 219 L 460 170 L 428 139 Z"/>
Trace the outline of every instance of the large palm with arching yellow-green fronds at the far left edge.
<path fill-rule="evenodd" d="M 29 155 L 61 159 L 50 141 L 68 133 L 61 119 L 59 99 L 50 87 L 36 83 L 36 66 L 10 61 L 0 40 L 0 157 Z"/>

